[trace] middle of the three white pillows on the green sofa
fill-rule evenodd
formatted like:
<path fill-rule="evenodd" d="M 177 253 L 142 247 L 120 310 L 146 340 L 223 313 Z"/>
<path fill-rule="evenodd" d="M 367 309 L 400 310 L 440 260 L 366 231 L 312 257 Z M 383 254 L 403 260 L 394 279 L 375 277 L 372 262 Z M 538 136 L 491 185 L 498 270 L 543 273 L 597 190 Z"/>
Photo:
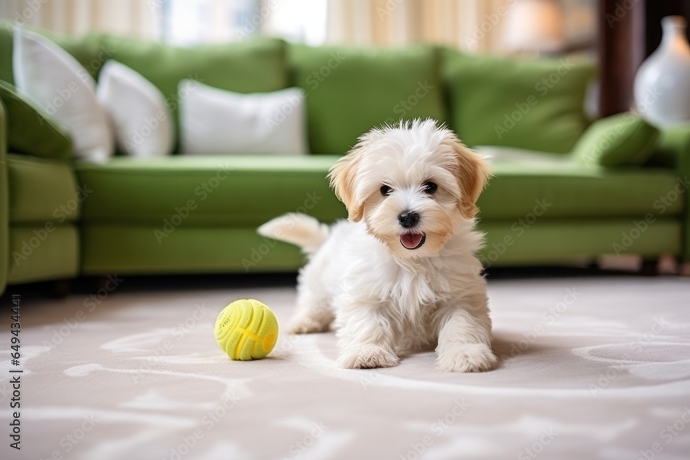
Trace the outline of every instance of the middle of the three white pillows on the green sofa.
<path fill-rule="evenodd" d="M 111 59 L 101 69 L 96 96 L 121 152 L 142 158 L 172 152 L 175 128 L 166 99 L 139 72 Z"/>

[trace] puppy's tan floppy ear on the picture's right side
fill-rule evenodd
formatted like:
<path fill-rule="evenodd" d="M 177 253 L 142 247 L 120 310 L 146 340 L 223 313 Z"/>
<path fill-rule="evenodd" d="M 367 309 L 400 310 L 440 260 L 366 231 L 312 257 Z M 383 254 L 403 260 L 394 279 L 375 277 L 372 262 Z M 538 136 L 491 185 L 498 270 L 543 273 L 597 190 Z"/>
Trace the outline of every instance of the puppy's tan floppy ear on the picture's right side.
<path fill-rule="evenodd" d="M 482 155 L 465 146 L 457 138 L 453 140 L 452 145 L 457 161 L 454 174 L 460 183 L 461 192 L 458 206 L 466 219 L 472 219 L 479 212 L 477 199 L 491 177 L 491 168 Z"/>

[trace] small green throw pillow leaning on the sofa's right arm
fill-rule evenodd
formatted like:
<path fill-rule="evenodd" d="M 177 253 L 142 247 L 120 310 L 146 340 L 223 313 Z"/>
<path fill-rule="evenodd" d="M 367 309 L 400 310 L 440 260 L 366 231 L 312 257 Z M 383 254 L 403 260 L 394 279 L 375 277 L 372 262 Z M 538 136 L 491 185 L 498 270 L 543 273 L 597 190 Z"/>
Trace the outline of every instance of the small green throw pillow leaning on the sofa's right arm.
<path fill-rule="evenodd" d="M 575 144 L 573 157 L 588 166 L 640 166 L 658 139 L 657 128 L 640 115 L 625 112 L 592 123 Z"/>

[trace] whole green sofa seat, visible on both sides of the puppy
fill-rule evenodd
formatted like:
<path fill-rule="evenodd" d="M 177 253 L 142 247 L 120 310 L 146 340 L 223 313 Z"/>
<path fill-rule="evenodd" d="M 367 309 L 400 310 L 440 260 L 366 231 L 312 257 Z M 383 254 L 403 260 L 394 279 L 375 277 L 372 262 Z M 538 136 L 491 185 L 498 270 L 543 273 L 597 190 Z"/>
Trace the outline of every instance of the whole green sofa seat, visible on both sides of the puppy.
<path fill-rule="evenodd" d="M 331 222 L 346 217 L 325 179 L 336 159 L 179 156 L 77 163 L 79 183 L 94 190 L 83 203 L 83 221 L 146 225 L 152 241 L 177 228 L 254 228 L 295 210 Z M 658 212 L 655 203 L 676 185 L 669 170 L 609 170 L 574 161 L 499 161 L 493 168 L 496 177 L 479 201 L 486 221 L 535 213 L 544 219 L 637 218 Z M 676 200 L 664 215 L 680 212 Z"/>

